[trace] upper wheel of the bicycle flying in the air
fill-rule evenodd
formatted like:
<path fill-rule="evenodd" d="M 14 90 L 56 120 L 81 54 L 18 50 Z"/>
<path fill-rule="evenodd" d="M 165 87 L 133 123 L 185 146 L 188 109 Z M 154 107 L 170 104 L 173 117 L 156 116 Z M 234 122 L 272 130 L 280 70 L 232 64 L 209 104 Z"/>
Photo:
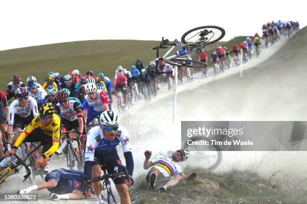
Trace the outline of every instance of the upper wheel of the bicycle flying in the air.
<path fill-rule="evenodd" d="M 225 30 L 222 27 L 205 25 L 188 30 L 182 35 L 181 41 L 190 46 L 203 48 L 205 45 L 219 41 L 224 36 Z"/>

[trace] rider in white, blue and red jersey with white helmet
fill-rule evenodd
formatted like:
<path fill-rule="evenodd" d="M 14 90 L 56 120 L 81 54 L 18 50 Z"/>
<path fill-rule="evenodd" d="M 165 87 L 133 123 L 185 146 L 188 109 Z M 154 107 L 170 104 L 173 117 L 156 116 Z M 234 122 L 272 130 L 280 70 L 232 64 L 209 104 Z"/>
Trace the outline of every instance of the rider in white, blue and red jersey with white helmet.
<path fill-rule="evenodd" d="M 83 99 L 83 116 L 88 125 L 95 117 L 104 110 L 109 109 L 108 97 L 102 90 L 97 90 L 94 83 L 85 86 L 86 95 Z"/>

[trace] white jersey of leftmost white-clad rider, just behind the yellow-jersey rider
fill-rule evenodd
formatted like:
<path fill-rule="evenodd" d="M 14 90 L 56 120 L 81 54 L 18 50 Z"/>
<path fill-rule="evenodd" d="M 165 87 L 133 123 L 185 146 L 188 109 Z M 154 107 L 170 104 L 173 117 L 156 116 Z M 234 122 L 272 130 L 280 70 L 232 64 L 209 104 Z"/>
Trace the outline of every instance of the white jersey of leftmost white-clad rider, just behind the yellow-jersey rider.
<path fill-rule="evenodd" d="M 9 108 L 9 125 L 14 125 L 15 114 L 18 114 L 20 117 L 28 117 L 31 111 L 33 111 L 34 117 L 39 113 L 37 102 L 33 97 L 29 96 L 29 102 L 25 107 L 19 105 L 18 99 L 13 100 Z"/>

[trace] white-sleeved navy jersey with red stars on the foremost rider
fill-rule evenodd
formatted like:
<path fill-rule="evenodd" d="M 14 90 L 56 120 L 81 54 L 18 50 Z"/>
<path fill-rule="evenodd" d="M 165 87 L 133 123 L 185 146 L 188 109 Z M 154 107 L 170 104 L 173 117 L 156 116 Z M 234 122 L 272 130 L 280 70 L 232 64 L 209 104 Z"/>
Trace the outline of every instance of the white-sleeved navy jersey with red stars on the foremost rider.
<path fill-rule="evenodd" d="M 126 128 L 119 125 L 114 140 L 109 141 L 104 137 L 100 126 L 94 126 L 88 131 L 86 136 L 84 161 L 93 161 L 95 151 L 97 154 L 112 152 L 112 150 L 116 148 L 119 143 L 122 145 L 123 152 L 132 152 L 131 141 Z"/>

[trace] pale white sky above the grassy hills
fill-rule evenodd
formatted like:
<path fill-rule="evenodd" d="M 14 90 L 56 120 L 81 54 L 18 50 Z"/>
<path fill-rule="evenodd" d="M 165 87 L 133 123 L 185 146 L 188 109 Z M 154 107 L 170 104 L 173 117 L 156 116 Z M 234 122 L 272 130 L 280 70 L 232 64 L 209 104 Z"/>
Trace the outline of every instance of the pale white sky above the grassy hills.
<path fill-rule="evenodd" d="M 307 24 L 302 1 L 275 0 L 1 0 L 0 50 L 91 39 L 174 40 L 218 25 L 222 40 L 261 33 L 271 20 Z"/>

